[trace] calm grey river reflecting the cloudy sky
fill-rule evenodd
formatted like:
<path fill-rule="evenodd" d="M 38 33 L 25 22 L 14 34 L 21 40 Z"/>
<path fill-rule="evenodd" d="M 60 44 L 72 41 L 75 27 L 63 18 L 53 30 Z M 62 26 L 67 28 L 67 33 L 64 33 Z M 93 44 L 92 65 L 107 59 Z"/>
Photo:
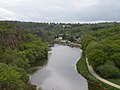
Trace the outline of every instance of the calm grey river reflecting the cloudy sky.
<path fill-rule="evenodd" d="M 30 82 L 43 90 L 88 90 L 76 70 L 82 50 L 55 44 L 50 52 L 48 63 L 30 75 Z"/>

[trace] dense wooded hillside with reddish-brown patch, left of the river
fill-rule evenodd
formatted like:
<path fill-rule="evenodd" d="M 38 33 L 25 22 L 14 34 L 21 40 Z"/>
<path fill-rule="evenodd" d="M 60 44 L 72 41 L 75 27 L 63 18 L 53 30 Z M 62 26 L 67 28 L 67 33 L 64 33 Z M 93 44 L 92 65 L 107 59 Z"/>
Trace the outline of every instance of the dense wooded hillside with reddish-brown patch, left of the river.
<path fill-rule="evenodd" d="M 48 47 L 40 38 L 0 22 L 0 90 L 31 90 L 31 64 L 47 58 Z"/>

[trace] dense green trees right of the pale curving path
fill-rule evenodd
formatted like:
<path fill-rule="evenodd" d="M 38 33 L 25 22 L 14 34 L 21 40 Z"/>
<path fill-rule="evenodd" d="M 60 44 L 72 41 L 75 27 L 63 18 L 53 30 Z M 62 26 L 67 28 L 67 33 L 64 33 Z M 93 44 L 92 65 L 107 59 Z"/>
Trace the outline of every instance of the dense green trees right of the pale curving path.
<path fill-rule="evenodd" d="M 120 26 L 90 32 L 82 37 L 82 48 L 93 68 L 104 78 L 120 78 Z"/>

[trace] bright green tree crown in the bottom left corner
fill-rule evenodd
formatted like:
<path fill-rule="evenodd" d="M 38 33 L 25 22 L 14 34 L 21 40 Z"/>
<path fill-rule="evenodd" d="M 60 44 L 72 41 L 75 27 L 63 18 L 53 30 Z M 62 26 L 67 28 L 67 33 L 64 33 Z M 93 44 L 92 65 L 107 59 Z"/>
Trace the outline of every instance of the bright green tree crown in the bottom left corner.
<path fill-rule="evenodd" d="M 24 90 L 25 83 L 21 80 L 21 74 L 7 66 L 0 63 L 0 89 L 1 90 Z"/>

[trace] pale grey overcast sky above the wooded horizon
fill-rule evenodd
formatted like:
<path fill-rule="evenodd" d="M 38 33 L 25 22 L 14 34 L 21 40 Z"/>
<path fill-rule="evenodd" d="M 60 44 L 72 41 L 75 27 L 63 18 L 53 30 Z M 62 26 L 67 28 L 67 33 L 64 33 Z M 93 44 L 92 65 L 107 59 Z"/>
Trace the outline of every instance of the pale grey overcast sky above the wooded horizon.
<path fill-rule="evenodd" d="M 120 0 L 0 0 L 0 20 L 120 21 Z"/>

